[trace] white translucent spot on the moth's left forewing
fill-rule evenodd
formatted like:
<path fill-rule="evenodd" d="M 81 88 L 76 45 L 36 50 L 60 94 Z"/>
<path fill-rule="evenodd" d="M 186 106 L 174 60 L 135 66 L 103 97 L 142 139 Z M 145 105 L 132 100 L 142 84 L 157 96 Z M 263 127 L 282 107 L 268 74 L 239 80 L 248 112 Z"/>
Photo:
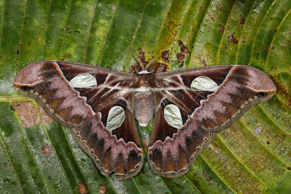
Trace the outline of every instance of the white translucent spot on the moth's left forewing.
<path fill-rule="evenodd" d="M 95 88 L 97 86 L 97 81 L 93 75 L 83 73 L 71 79 L 70 86 L 73 88 Z"/>

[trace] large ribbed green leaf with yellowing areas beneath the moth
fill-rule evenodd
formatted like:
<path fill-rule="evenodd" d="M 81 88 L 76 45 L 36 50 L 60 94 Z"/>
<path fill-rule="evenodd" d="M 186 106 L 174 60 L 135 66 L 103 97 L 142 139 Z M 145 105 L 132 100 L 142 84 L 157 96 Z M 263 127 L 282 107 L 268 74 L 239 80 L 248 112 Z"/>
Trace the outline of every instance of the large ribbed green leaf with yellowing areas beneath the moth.
<path fill-rule="evenodd" d="M 0 0 L 0 193 L 78 193 L 78 183 L 89 193 L 100 186 L 108 193 L 290 192 L 290 10 L 290 0 Z M 183 66 L 178 40 L 191 52 Z M 146 58 L 169 49 L 171 70 L 249 64 L 274 81 L 277 94 L 219 132 L 175 179 L 154 174 L 147 162 L 131 179 L 106 178 L 70 129 L 21 127 L 11 104 L 35 104 L 12 87 L 24 65 L 54 59 L 127 71 L 138 48 Z M 141 142 L 150 131 L 139 127 Z"/>

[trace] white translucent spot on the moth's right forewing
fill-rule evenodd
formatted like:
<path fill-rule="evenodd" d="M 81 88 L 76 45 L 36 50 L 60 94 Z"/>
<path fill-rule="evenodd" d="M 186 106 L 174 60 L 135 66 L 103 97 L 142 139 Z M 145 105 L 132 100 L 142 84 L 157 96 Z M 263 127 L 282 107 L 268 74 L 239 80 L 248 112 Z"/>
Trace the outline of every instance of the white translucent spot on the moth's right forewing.
<path fill-rule="evenodd" d="M 210 91 L 214 92 L 218 89 L 217 83 L 205 76 L 196 77 L 191 83 L 191 89 L 195 91 Z"/>

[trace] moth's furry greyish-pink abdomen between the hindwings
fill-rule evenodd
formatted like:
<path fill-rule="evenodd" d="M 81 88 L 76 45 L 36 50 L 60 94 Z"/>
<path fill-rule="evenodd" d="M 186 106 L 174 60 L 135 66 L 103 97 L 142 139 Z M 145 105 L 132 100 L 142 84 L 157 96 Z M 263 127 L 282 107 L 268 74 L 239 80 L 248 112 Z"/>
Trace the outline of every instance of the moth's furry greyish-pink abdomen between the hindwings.
<path fill-rule="evenodd" d="M 136 92 L 134 95 L 134 115 L 139 125 L 145 127 L 154 117 L 155 102 L 151 92 Z"/>

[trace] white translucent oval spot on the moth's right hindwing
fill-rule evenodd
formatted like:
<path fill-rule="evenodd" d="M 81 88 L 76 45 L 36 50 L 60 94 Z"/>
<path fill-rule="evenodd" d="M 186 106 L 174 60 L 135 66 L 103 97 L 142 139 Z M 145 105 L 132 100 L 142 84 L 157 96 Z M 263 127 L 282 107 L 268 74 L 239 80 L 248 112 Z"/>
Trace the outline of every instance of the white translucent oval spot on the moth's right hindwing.
<path fill-rule="evenodd" d="M 180 129 L 183 126 L 181 112 L 174 104 L 169 104 L 164 108 L 164 117 L 172 127 Z"/>

